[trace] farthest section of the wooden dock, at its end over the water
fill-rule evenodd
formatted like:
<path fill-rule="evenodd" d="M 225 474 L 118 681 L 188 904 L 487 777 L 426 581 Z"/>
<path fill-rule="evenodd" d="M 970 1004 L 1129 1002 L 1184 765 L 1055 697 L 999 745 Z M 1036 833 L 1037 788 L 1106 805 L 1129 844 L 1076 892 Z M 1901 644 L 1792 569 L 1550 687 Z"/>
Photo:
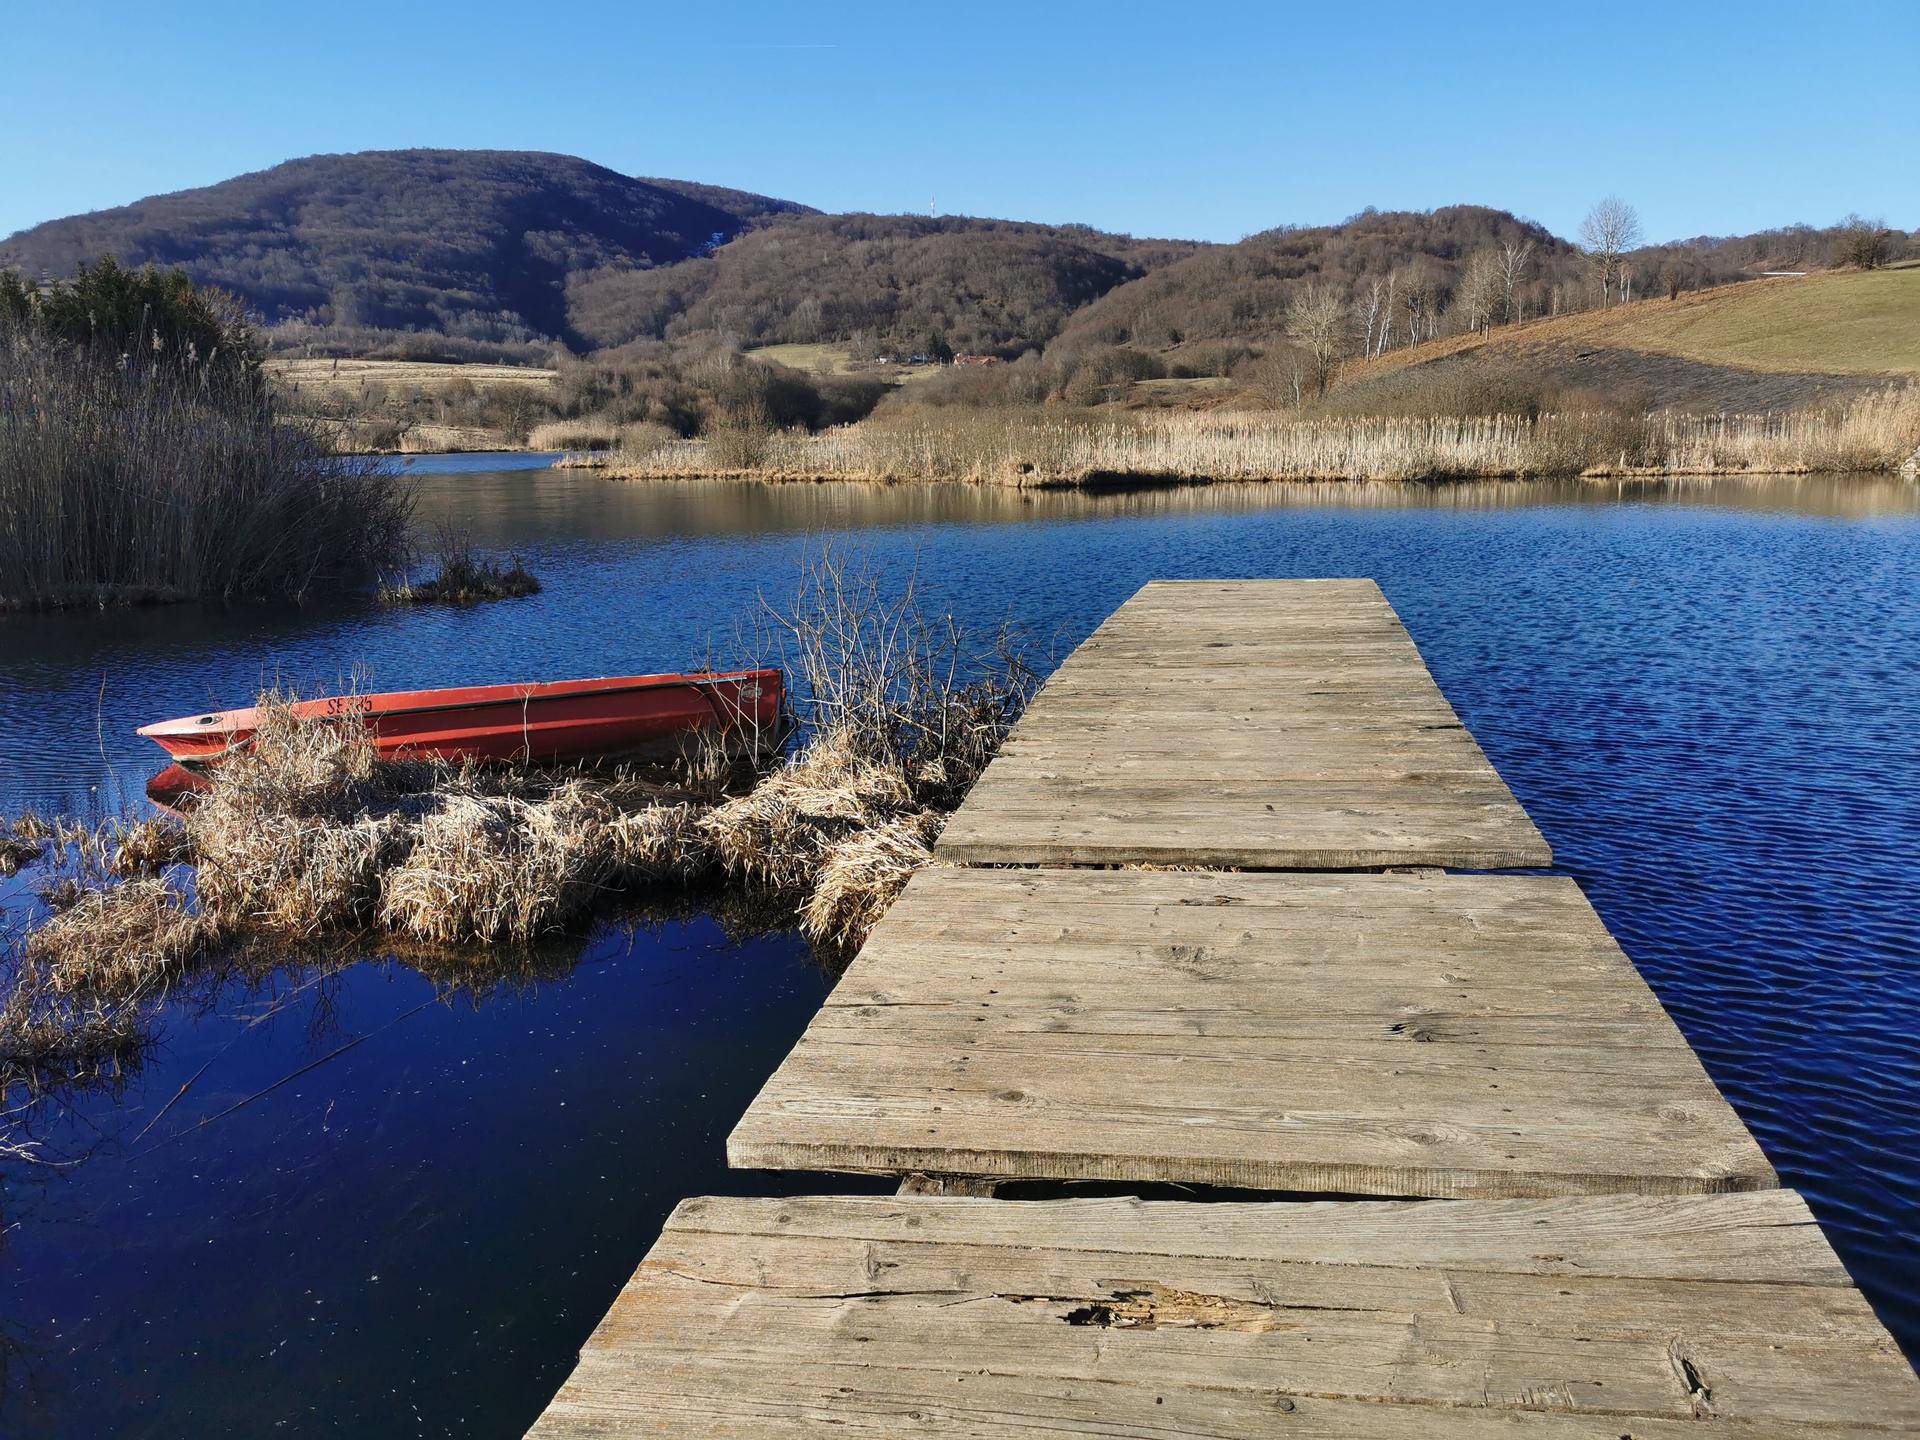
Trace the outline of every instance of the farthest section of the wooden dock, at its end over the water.
<path fill-rule="evenodd" d="M 1046 682 L 935 854 L 1250 870 L 1551 862 L 1371 580 L 1142 588 Z"/>

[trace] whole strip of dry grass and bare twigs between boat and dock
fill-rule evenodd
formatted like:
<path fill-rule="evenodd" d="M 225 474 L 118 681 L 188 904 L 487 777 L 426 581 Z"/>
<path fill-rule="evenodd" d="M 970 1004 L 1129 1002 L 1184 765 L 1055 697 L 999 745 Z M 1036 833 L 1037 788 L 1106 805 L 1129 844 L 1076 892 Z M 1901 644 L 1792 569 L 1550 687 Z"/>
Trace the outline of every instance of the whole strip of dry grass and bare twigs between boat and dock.
<path fill-rule="evenodd" d="M 188 977 L 275 956 L 392 954 L 459 977 L 580 935 L 622 904 L 747 900 L 829 962 L 851 954 L 1021 712 L 1035 670 L 831 561 L 772 612 L 795 684 L 783 745 L 695 732 L 632 766 L 382 758 L 361 710 L 261 697 L 252 741 L 179 816 L 21 816 L 8 874 L 36 922 L 4 937 L 0 1085 L 98 1075 L 138 1052 Z"/>

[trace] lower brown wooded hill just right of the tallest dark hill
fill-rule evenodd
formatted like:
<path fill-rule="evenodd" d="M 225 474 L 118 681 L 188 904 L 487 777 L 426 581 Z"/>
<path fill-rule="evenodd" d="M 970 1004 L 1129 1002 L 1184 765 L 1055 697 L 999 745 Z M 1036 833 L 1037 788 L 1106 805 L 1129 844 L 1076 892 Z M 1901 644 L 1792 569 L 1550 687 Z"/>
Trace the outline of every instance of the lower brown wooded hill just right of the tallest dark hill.
<path fill-rule="evenodd" d="M 1198 250 L 1077 225 L 780 217 L 684 265 L 584 273 L 570 319 L 595 346 L 718 332 L 751 346 L 866 338 L 1020 353 L 1114 286 Z"/>

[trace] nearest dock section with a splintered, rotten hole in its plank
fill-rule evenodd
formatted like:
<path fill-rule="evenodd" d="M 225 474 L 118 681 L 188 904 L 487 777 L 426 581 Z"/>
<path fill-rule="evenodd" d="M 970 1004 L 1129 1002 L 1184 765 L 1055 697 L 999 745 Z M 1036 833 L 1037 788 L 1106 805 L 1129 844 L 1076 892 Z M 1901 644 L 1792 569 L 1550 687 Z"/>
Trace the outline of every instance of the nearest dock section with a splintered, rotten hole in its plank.
<path fill-rule="evenodd" d="M 1799 1196 L 699 1198 L 534 1436 L 1920 1430 Z"/>

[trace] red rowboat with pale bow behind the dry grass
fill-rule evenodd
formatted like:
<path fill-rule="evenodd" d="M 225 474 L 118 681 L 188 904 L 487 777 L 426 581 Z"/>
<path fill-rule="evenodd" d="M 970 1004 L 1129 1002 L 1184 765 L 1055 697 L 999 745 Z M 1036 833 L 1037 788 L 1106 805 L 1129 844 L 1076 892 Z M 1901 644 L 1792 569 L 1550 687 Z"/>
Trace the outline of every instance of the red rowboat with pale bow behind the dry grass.
<path fill-rule="evenodd" d="M 599 760 L 672 756 L 695 730 L 718 728 L 735 745 L 780 737 L 780 670 L 551 680 L 538 685 L 397 689 L 294 701 L 300 716 L 357 718 L 384 758 L 401 753 L 449 760 Z M 207 764 L 252 741 L 259 710 L 213 710 L 140 726 L 182 764 Z"/>

